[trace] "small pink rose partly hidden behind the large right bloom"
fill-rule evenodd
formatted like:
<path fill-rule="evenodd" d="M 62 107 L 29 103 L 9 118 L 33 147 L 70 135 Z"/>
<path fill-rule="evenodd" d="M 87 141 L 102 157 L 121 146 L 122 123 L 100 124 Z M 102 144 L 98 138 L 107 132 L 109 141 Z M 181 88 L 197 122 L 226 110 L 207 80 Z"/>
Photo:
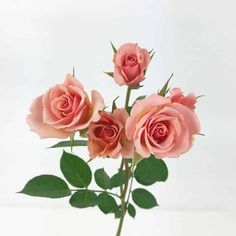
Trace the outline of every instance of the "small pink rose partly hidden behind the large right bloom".
<path fill-rule="evenodd" d="M 185 105 L 192 110 L 195 109 L 195 104 L 197 102 L 197 98 L 194 95 L 194 93 L 190 93 L 187 96 L 184 96 L 180 88 L 171 89 L 170 99 L 172 103 L 173 102 L 181 103 L 182 105 Z"/>

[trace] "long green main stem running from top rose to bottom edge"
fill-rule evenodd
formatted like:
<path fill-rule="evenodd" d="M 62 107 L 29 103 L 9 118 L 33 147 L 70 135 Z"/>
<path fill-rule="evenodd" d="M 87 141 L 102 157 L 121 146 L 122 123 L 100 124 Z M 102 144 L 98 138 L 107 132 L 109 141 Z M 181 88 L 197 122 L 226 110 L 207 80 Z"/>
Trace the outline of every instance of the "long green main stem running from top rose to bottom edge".
<path fill-rule="evenodd" d="M 126 98 L 125 98 L 125 109 L 126 109 L 126 111 L 128 111 L 128 108 L 129 108 L 130 94 L 131 94 L 131 87 L 127 87 Z M 129 178 L 130 178 L 130 169 L 129 169 L 128 160 L 122 158 L 121 165 L 120 165 L 120 171 L 123 170 L 124 165 L 125 165 L 125 186 L 124 186 L 124 189 L 123 189 L 122 186 L 120 187 L 121 216 L 120 216 L 120 222 L 119 222 L 119 226 L 118 226 L 118 229 L 117 229 L 117 232 L 116 232 L 116 236 L 121 235 L 121 230 L 122 230 L 122 226 L 123 226 L 124 219 L 125 219 L 125 213 L 126 213 L 125 197 L 126 197 L 126 193 L 127 193 L 127 190 L 128 190 Z"/>

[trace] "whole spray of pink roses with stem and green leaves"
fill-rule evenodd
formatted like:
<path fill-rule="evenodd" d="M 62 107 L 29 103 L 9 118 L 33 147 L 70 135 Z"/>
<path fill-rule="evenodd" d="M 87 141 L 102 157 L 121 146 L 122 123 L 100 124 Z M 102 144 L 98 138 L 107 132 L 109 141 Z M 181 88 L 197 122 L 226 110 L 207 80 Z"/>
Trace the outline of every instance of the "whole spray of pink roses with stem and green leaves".
<path fill-rule="evenodd" d="M 63 151 L 60 159 L 64 179 L 36 176 L 20 193 L 47 198 L 69 196 L 70 204 L 77 208 L 97 206 L 104 214 L 119 219 L 119 236 L 125 215 L 136 215 L 134 204 L 144 209 L 158 206 L 154 195 L 144 187 L 133 189 L 133 181 L 143 186 L 165 181 L 168 169 L 163 158 L 187 152 L 194 135 L 200 134 L 200 124 L 195 113 L 198 97 L 193 93 L 185 96 L 179 88 L 170 89 L 171 78 L 159 91 L 130 101 L 132 90 L 142 87 L 154 51 L 133 43 L 118 50 L 111 45 L 114 71 L 106 74 L 118 85 L 127 86 L 124 108 L 117 108 L 116 98 L 108 109 L 96 90 L 89 98 L 74 72 L 37 97 L 27 116 L 31 130 L 41 138 L 69 138 L 52 148 L 71 147 L 71 152 Z M 72 154 L 75 146 L 87 146 L 90 159 Z M 96 170 L 98 188 L 91 189 L 89 162 L 97 157 L 120 158 L 121 163 L 113 176 L 104 168 Z"/>

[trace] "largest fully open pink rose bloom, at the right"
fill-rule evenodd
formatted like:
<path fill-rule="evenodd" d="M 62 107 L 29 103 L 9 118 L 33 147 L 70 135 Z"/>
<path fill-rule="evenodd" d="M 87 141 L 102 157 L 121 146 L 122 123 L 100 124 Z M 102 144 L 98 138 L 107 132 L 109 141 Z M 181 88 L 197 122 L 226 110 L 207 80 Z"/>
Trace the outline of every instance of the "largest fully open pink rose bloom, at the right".
<path fill-rule="evenodd" d="M 200 131 L 196 114 L 170 98 L 152 94 L 135 103 L 126 123 L 128 139 L 143 157 L 178 157 L 187 152 Z"/>

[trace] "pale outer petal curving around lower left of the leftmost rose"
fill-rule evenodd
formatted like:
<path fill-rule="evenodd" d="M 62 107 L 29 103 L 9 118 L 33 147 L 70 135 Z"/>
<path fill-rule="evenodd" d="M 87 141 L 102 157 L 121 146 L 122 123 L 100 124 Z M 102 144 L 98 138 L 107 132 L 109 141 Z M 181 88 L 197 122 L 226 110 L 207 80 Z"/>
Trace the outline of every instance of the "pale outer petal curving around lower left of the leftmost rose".
<path fill-rule="evenodd" d="M 54 129 L 53 127 L 43 123 L 43 96 L 37 97 L 30 107 L 31 114 L 27 116 L 27 123 L 31 130 L 36 132 L 40 138 L 66 138 L 70 133 Z"/>

